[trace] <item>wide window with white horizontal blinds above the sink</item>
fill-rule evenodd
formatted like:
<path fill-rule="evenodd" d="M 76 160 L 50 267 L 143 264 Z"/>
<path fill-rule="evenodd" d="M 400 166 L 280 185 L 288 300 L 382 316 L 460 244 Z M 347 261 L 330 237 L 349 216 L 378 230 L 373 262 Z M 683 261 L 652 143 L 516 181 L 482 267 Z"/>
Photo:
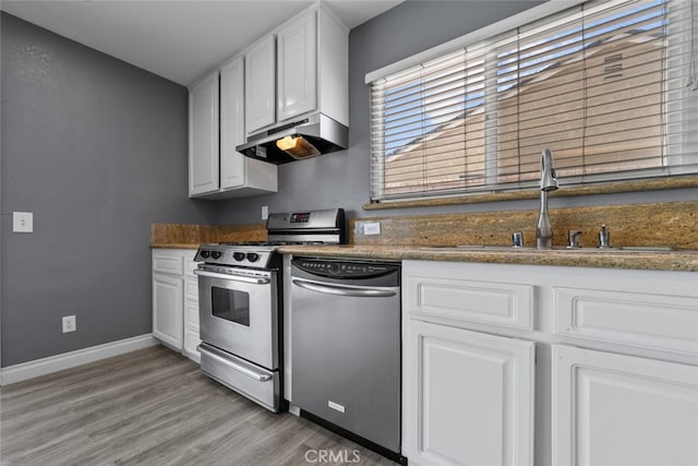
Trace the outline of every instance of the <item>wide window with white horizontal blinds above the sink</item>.
<path fill-rule="evenodd" d="M 698 172 L 694 3 L 586 2 L 370 73 L 372 202 L 533 188 L 544 147 L 566 186 Z"/>

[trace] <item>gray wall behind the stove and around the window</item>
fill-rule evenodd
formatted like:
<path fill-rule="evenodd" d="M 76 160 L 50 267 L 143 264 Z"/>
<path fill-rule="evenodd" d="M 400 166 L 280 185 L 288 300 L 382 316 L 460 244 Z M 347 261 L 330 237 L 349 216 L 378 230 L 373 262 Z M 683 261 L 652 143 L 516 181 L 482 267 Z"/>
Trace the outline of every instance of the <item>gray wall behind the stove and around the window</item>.
<path fill-rule="evenodd" d="M 349 36 L 349 148 L 279 167 L 279 193 L 221 204 L 220 223 L 261 222 L 270 212 L 342 206 L 352 217 L 538 208 L 538 202 L 494 202 L 397 211 L 363 211 L 369 202 L 368 72 L 488 24 L 532 8 L 540 1 L 406 1 L 356 27 Z M 562 188 L 564 189 L 564 187 Z M 696 199 L 696 190 L 583 198 L 557 198 L 551 207 Z"/>

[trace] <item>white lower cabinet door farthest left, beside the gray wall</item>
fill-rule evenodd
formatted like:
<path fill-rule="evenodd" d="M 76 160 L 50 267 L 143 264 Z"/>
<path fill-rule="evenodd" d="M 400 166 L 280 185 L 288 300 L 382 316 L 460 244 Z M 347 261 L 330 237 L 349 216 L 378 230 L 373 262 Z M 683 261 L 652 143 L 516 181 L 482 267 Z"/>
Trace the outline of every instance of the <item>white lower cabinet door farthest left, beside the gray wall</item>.
<path fill-rule="evenodd" d="M 182 350 L 184 279 L 153 274 L 153 336 Z"/>

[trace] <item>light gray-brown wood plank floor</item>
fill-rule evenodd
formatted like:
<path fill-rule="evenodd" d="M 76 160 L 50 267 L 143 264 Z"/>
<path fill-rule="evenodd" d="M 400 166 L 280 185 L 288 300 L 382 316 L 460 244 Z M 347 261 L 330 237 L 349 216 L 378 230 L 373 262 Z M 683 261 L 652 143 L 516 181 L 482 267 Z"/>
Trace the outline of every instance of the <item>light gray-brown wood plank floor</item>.
<path fill-rule="evenodd" d="M 305 419 L 274 415 L 156 346 L 0 387 L 0 464 L 396 463 Z"/>

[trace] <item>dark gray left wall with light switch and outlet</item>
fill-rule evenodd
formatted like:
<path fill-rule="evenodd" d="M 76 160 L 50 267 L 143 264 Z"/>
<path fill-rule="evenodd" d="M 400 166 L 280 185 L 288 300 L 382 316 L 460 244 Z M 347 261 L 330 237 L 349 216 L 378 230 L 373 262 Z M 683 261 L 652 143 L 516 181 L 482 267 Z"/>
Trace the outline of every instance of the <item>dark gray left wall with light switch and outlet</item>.
<path fill-rule="evenodd" d="M 1 33 L 2 367 L 147 334 L 149 224 L 216 220 L 186 198 L 186 89 L 7 13 Z"/>

